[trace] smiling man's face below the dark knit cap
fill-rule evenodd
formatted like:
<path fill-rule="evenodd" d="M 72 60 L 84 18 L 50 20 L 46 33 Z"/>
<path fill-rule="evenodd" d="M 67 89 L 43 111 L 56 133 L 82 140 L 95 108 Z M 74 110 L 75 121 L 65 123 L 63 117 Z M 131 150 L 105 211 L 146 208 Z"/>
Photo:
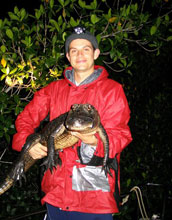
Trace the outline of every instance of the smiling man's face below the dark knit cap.
<path fill-rule="evenodd" d="M 94 71 L 94 60 L 99 56 L 99 49 L 94 50 L 90 41 L 85 39 L 73 40 L 66 54 L 71 66 L 76 72 Z"/>

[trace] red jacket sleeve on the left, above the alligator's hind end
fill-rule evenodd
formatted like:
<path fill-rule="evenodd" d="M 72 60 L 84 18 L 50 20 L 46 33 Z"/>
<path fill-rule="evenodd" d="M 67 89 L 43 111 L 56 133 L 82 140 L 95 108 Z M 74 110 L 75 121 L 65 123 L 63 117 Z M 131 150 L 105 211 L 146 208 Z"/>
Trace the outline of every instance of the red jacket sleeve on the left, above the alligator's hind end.
<path fill-rule="evenodd" d="M 34 132 L 49 112 L 51 84 L 35 93 L 32 101 L 18 115 L 13 136 L 12 148 L 21 151 L 28 135 Z"/>

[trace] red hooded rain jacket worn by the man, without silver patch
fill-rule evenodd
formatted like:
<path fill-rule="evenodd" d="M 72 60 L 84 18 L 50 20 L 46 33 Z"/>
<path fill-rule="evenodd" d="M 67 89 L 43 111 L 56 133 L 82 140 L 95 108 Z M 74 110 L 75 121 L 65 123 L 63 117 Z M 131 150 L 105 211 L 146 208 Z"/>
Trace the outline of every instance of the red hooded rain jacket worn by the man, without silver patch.
<path fill-rule="evenodd" d="M 34 128 L 39 126 L 40 121 L 45 118 L 48 112 L 50 112 L 50 120 L 52 120 L 69 111 L 72 104 L 90 103 L 98 110 L 101 122 L 108 134 L 109 156 L 113 158 L 117 153 L 121 153 L 132 140 L 127 125 L 130 118 L 127 99 L 122 86 L 114 80 L 108 79 L 108 73 L 103 67 L 95 66 L 95 69 L 97 68 L 103 69 L 101 75 L 87 85 L 75 86 L 65 77 L 65 79 L 52 82 L 36 92 L 33 100 L 17 117 L 17 133 L 13 137 L 13 149 L 21 150 L 27 136 L 34 132 Z M 103 157 L 103 145 L 98 135 L 97 138 L 98 145 L 95 154 Z M 46 195 L 42 199 L 42 203 L 47 202 L 68 211 L 118 212 L 113 196 L 115 178 L 108 175 L 110 191 L 101 189 L 77 191 L 72 189 L 74 167 L 76 169 L 85 167 L 77 162 L 79 159 L 77 146 L 79 144 L 60 152 L 62 166 L 58 166 L 53 174 L 49 170 L 45 173 L 42 180 L 42 190 Z"/>

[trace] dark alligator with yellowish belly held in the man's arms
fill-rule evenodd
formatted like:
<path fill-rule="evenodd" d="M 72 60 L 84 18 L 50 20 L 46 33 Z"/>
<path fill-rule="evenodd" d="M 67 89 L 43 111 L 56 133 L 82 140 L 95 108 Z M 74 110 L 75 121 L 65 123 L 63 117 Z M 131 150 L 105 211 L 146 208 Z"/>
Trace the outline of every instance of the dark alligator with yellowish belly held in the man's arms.
<path fill-rule="evenodd" d="M 74 104 L 71 109 L 61 114 L 59 117 L 50 121 L 41 132 L 34 132 L 26 139 L 19 158 L 14 163 L 13 168 L 0 184 L 0 195 L 6 192 L 17 181 L 25 178 L 25 173 L 28 169 L 36 163 L 37 160 L 29 155 L 29 150 L 37 143 L 48 148 L 48 154 L 43 165 L 46 170 L 61 165 L 59 151 L 71 147 L 78 142 L 78 138 L 71 134 L 77 131 L 80 133 L 98 132 L 104 145 L 104 157 L 102 158 L 102 170 L 110 173 L 107 160 L 109 158 L 109 139 L 100 121 L 98 111 L 90 104 Z"/>

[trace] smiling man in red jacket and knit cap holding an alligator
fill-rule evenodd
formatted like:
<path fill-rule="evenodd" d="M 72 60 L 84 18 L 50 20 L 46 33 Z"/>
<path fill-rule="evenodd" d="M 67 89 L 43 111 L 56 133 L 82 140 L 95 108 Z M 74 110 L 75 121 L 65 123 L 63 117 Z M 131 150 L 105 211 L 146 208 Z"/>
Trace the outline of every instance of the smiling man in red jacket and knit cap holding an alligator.
<path fill-rule="evenodd" d="M 17 133 L 13 148 L 21 150 L 27 136 L 34 132 L 41 120 L 50 112 L 50 120 L 69 111 L 72 104 L 90 103 L 99 112 L 101 122 L 110 141 L 110 158 L 119 157 L 132 140 L 128 121 L 130 110 L 122 86 L 108 79 L 102 66 L 95 66 L 100 54 L 96 38 L 84 28 L 76 27 L 65 43 L 66 57 L 71 67 L 64 71 L 64 79 L 52 82 L 36 92 L 33 100 L 16 120 Z M 93 156 L 103 157 L 103 144 L 99 135 L 73 133 L 80 141 L 60 152 L 62 166 L 48 170 L 42 180 L 47 206 L 47 220 L 112 220 L 118 212 L 114 197 L 119 186 L 119 173 L 111 170 L 105 176 L 101 166 L 89 164 Z M 78 154 L 79 149 L 79 154 Z M 30 155 L 40 159 L 47 155 L 47 148 L 36 144 Z M 78 162 L 81 159 L 81 162 Z M 84 165 L 88 164 L 88 165 Z"/>

